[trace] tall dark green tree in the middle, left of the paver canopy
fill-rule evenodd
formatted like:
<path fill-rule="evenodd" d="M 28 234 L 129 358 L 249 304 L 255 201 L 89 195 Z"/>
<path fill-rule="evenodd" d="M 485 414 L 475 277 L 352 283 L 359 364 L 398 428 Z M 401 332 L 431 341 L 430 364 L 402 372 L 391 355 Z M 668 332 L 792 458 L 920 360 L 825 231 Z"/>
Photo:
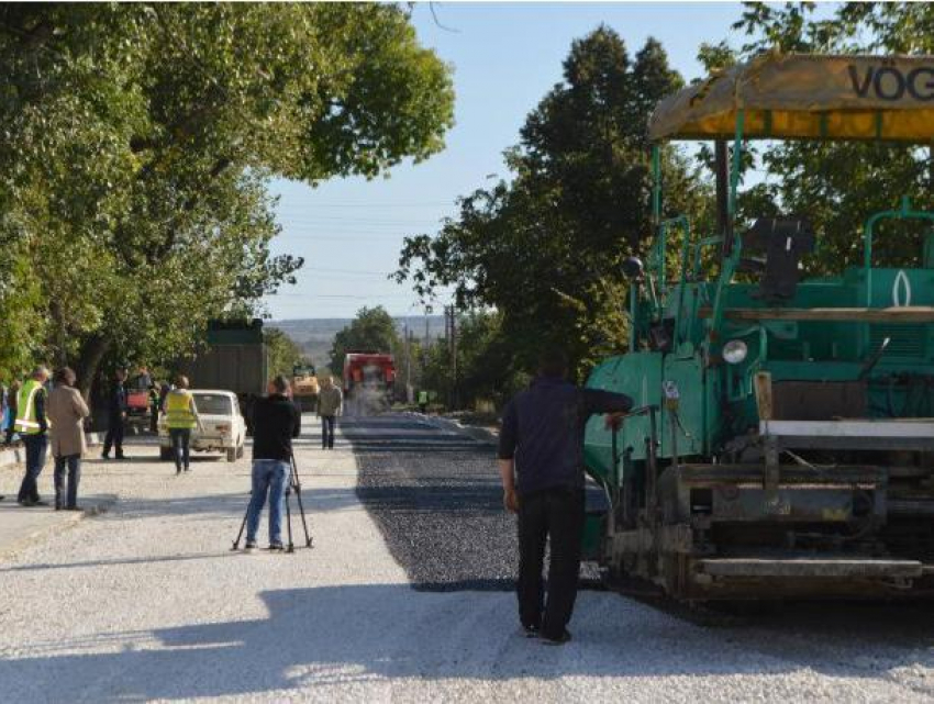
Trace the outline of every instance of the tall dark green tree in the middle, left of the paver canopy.
<path fill-rule="evenodd" d="M 560 344 L 583 370 L 625 346 L 620 265 L 653 233 L 645 127 L 681 80 L 655 40 L 632 60 L 605 26 L 574 42 L 564 78 L 505 154 L 512 182 L 463 198 L 434 237 L 407 238 L 397 279 L 422 297 L 453 286 L 460 306 L 498 311 L 520 367 Z M 669 148 L 663 161 L 666 212 L 701 212 L 687 160 Z"/>

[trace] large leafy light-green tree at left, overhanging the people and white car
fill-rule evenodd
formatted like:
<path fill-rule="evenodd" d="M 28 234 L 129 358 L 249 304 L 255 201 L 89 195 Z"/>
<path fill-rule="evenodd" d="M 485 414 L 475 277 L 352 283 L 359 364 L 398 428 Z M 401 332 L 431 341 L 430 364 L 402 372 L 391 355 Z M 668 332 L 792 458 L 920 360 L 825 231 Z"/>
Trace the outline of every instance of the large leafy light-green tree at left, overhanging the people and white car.
<path fill-rule="evenodd" d="M 0 354 L 44 348 L 86 389 L 291 280 L 271 176 L 374 177 L 452 124 L 449 69 L 396 5 L 2 5 L 0 69 L 0 245 L 37 292 L 0 291 L 29 331 Z"/>

